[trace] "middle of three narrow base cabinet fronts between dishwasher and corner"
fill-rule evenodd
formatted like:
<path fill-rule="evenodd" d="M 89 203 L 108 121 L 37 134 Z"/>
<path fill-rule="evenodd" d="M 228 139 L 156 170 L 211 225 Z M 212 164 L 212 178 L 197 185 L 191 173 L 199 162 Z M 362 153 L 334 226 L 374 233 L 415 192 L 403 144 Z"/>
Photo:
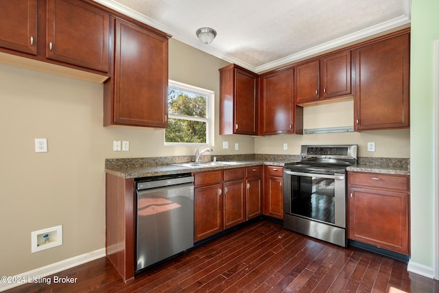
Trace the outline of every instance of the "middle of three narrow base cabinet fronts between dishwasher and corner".
<path fill-rule="evenodd" d="M 224 170 L 224 229 L 246 221 L 244 168 Z"/>

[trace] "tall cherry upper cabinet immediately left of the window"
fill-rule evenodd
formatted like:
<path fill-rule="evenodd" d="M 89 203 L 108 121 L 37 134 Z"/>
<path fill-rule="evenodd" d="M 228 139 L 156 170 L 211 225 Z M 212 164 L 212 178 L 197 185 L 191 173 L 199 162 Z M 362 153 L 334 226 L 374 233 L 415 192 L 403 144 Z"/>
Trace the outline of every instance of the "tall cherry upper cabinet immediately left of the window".
<path fill-rule="evenodd" d="M 168 38 L 115 20 L 114 76 L 104 84 L 104 126 L 167 128 Z"/>

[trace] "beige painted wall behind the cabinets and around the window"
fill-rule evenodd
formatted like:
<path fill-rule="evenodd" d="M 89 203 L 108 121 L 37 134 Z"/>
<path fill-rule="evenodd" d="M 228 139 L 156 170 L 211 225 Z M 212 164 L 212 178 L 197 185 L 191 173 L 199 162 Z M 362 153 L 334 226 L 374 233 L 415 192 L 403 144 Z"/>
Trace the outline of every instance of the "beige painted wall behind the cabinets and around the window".
<path fill-rule="evenodd" d="M 169 42 L 169 78 L 215 91 L 213 154 L 283 154 L 285 142 L 289 144 L 287 153 L 298 154 L 300 144 L 321 142 L 359 143 L 360 155 L 368 156 L 361 149 L 367 141 L 375 141 L 377 152 L 370 155 L 409 156 L 407 130 L 220 136 L 218 69 L 225 65 L 227 62 L 198 49 L 172 39 Z M 0 266 L 0 275 L 20 274 L 104 248 L 106 158 L 193 154 L 194 147 L 161 147 L 163 130 L 102 127 L 102 94 L 102 84 L 0 65 L 0 259 L 8 263 Z M 348 117 L 349 107 L 340 104 L 335 110 Z M 305 110 L 305 117 L 311 119 L 305 120 L 305 127 L 314 128 L 317 120 L 310 117 L 320 117 L 321 109 Z M 49 152 L 35 153 L 35 138 L 47 138 Z M 130 141 L 130 151 L 113 152 L 113 140 Z M 228 150 L 222 148 L 222 141 L 229 142 Z M 238 151 L 235 143 L 239 143 Z M 31 253 L 31 232 L 57 225 L 63 226 L 62 246 Z"/>

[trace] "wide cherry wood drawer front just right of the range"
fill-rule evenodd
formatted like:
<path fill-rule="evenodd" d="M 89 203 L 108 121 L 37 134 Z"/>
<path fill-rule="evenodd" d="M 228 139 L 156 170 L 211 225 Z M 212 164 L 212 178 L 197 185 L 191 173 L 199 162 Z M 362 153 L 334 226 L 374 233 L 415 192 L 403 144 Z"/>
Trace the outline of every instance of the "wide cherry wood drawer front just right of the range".
<path fill-rule="evenodd" d="M 408 176 L 350 172 L 349 184 L 407 191 L 409 178 Z"/>

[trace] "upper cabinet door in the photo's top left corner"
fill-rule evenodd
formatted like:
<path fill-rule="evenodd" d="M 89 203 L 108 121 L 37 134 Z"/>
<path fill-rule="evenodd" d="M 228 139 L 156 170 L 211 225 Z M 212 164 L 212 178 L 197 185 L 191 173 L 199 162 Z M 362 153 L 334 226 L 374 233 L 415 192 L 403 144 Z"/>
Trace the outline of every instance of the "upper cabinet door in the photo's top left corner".
<path fill-rule="evenodd" d="M 0 47 L 36 55 L 36 0 L 0 1 Z"/>

